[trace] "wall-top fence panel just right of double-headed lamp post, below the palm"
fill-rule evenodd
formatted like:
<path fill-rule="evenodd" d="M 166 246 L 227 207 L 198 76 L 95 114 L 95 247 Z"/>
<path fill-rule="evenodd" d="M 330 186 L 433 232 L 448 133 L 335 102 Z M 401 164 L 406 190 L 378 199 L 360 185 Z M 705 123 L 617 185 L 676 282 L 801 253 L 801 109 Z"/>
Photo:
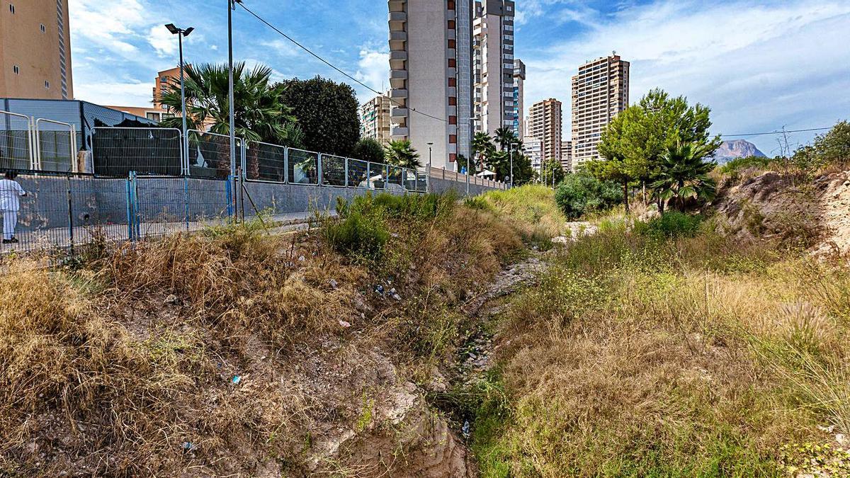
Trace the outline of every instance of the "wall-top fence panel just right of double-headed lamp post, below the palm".
<path fill-rule="evenodd" d="M 242 139 L 236 138 L 236 166 L 242 165 Z M 189 130 L 189 175 L 226 179 L 230 171 L 230 137 L 227 134 Z"/>

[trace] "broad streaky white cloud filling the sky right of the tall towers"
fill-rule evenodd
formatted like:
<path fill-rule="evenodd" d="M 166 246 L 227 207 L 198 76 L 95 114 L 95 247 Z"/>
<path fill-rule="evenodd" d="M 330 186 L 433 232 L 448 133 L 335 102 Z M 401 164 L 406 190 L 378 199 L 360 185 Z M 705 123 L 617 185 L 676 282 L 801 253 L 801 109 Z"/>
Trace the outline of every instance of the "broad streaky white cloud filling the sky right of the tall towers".
<path fill-rule="evenodd" d="M 847 111 L 850 104 L 837 94 L 850 88 L 848 31 L 850 3 L 626 6 L 567 42 L 530 50 L 523 58 L 525 100 L 562 100 L 564 131 L 570 131 L 570 77 L 585 60 L 615 49 L 632 62 L 632 102 L 661 87 L 711 106 L 718 132 L 772 130 L 785 122 L 812 126 L 819 114 Z M 825 82 L 835 88 L 832 94 L 815 94 Z"/>

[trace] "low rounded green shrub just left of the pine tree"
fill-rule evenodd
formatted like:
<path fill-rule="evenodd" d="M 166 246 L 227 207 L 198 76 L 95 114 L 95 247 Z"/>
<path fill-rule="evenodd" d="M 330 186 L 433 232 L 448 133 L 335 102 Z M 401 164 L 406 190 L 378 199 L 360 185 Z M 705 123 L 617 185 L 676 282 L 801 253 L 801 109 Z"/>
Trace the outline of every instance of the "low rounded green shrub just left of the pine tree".
<path fill-rule="evenodd" d="M 602 181 L 589 174 L 567 174 L 558 185 L 555 201 L 567 219 L 578 219 L 620 204 L 622 191 L 614 181 Z"/>

